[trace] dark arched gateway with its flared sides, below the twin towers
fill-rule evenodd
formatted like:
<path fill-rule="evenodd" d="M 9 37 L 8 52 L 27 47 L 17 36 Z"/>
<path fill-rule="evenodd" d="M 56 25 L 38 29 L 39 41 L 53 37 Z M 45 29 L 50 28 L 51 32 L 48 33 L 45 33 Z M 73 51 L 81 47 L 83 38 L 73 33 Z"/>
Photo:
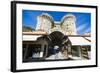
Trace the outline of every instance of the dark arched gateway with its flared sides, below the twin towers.
<path fill-rule="evenodd" d="M 68 52 L 70 53 L 71 49 L 71 42 L 68 39 L 68 36 L 64 35 L 62 32 L 54 31 L 49 35 L 43 35 L 42 37 L 39 37 L 37 40 L 42 46 L 46 46 L 46 48 L 41 48 L 44 59 L 56 53 L 55 47 L 58 47 L 58 52 L 64 54 L 65 59 L 68 58 Z"/>

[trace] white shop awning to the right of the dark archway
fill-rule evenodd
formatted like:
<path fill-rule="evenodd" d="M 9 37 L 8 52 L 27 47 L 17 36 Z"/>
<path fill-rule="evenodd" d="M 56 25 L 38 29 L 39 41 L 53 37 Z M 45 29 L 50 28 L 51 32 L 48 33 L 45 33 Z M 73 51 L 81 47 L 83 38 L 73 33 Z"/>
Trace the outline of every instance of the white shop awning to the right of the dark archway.
<path fill-rule="evenodd" d="M 88 37 L 89 39 L 91 37 Z M 87 40 L 85 37 L 69 37 L 69 40 L 71 41 L 72 45 L 91 45 L 91 42 Z"/>

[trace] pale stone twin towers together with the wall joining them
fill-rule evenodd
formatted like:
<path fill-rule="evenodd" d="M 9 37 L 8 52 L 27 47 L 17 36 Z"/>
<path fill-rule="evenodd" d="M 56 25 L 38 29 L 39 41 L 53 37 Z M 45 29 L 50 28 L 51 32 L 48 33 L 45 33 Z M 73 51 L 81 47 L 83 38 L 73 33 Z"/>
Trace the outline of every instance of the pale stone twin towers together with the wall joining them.
<path fill-rule="evenodd" d="M 37 31 L 45 31 L 52 33 L 54 31 L 60 31 L 66 35 L 76 35 L 76 17 L 72 14 L 63 16 L 60 22 L 53 20 L 53 17 L 47 13 L 42 13 L 37 17 Z"/>

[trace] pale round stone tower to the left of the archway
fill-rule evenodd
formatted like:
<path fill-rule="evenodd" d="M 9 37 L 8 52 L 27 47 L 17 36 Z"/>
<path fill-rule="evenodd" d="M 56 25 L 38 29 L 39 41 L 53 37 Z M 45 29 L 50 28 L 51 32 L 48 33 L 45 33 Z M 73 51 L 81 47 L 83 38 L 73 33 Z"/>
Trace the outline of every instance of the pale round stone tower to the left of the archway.
<path fill-rule="evenodd" d="M 37 17 L 37 26 L 36 30 L 49 32 L 53 27 L 54 21 L 52 16 L 47 13 L 42 13 Z"/>

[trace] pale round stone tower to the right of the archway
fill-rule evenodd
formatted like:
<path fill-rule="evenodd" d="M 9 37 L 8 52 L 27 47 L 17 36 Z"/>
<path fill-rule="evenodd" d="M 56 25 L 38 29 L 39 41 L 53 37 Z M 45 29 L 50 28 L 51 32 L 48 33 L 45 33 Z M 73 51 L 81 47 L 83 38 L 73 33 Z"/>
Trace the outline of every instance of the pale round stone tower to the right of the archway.
<path fill-rule="evenodd" d="M 61 28 L 67 35 L 76 35 L 76 17 L 72 14 L 65 15 L 61 20 Z"/>

